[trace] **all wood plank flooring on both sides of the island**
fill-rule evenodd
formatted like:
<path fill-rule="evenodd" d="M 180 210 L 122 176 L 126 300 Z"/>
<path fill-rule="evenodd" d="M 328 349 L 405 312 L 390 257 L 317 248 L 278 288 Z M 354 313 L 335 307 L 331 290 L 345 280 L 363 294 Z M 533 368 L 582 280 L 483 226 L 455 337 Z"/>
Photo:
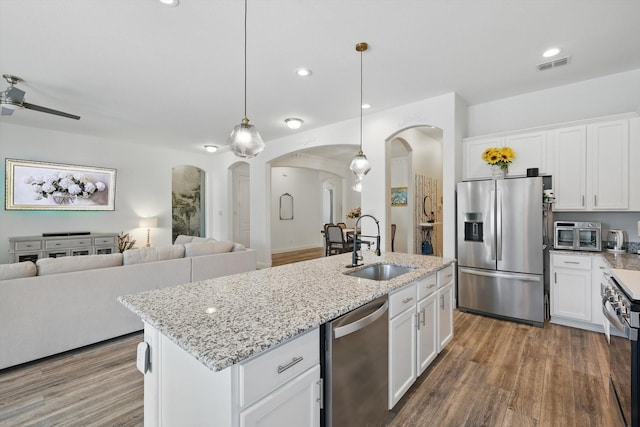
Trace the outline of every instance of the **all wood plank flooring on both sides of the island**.
<path fill-rule="evenodd" d="M 454 325 L 388 426 L 616 425 L 601 334 L 458 311 Z M 0 426 L 142 426 L 140 341 L 133 334 L 0 371 Z"/>

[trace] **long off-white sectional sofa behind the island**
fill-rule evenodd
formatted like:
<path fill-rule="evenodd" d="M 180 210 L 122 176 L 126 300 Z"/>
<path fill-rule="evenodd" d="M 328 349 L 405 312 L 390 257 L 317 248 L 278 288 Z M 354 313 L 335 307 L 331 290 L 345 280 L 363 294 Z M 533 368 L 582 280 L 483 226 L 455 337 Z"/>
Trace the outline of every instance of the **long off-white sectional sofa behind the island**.
<path fill-rule="evenodd" d="M 166 247 L 0 265 L 0 369 L 142 330 L 118 296 L 255 267 L 253 249 L 188 236 Z"/>

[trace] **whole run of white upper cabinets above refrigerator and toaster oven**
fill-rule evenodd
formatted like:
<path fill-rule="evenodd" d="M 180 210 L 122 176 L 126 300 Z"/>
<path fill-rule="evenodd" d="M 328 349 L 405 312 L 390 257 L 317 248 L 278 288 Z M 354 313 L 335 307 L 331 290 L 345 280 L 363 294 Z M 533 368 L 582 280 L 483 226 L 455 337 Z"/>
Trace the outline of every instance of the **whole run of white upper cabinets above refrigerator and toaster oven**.
<path fill-rule="evenodd" d="M 590 119 L 572 126 L 553 125 L 463 141 L 464 180 L 488 179 L 482 160 L 488 147 L 509 146 L 516 158 L 508 176 L 529 168 L 553 176 L 554 211 L 640 210 L 640 118 L 630 114 Z"/>

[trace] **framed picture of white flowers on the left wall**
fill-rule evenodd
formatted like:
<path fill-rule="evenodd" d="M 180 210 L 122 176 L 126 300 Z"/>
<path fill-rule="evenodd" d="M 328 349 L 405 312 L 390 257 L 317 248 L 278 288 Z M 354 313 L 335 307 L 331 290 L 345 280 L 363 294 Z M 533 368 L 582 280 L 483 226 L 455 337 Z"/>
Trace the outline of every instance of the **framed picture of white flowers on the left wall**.
<path fill-rule="evenodd" d="M 115 210 L 116 170 L 5 159 L 5 210 Z"/>

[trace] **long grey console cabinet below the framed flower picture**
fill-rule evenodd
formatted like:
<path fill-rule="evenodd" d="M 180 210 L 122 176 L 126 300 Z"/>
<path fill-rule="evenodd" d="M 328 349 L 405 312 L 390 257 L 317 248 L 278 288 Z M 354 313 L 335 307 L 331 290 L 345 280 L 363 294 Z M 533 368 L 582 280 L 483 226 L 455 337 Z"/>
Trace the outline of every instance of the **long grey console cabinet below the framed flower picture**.
<path fill-rule="evenodd" d="M 111 254 L 118 251 L 116 233 L 90 233 L 57 236 L 9 238 L 11 262 L 33 261 L 76 255 Z"/>

